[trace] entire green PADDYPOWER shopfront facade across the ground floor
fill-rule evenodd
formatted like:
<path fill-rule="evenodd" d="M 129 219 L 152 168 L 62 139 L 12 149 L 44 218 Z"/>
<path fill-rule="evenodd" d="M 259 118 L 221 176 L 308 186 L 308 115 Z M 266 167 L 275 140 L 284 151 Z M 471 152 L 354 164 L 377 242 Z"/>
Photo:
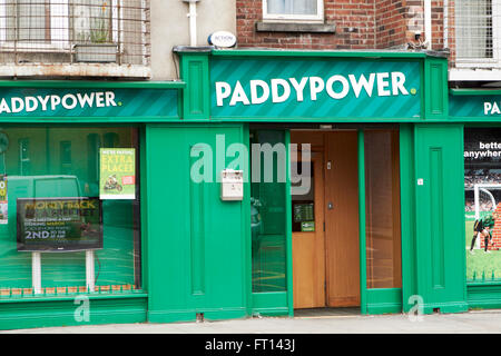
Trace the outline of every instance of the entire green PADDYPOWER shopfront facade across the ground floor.
<path fill-rule="evenodd" d="M 0 138 L 7 138 L 0 328 L 293 316 L 294 155 L 275 154 L 271 181 L 250 171 L 254 144 L 288 148 L 299 131 L 353 134 L 350 240 L 358 247 L 350 285 L 362 314 L 501 305 L 495 274 L 466 275 L 463 159 L 465 128 L 497 126 L 495 115 L 483 112 L 485 97 L 495 101 L 498 92 L 482 99 L 450 92 L 446 59 L 424 52 L 179 49 L 178 56 L 181 82 L 0 83 Z M 381 189 L 371 180 L 379 130 L 392 132 L 397 157 L 390 169 L 397 208 L 385 215 L 393 275 L 380 284 L 371 245 L 373 211 L 384 200 L 374 199 Z M 19 250 L 18 200 L 99 198 L 101 149 L 125 148 L 135 149 L 135 194 L 99 199 L 102 246 L 91 254 Z M 240 200 L 220 198 L 217 177 L 228 168 L 247 178 Z"/>

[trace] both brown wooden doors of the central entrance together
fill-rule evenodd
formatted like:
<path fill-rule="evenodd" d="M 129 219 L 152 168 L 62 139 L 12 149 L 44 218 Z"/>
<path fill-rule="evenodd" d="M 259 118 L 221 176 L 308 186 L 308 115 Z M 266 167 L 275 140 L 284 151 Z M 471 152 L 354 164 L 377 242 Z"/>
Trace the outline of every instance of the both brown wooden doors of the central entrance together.
<path fill-rule="evenodd" d="M 312 144 L 315 211 L 315 231 L 293 221 L 294 308 L 360 306 L 357 132 L 294 131 L 291 141 Z"/>

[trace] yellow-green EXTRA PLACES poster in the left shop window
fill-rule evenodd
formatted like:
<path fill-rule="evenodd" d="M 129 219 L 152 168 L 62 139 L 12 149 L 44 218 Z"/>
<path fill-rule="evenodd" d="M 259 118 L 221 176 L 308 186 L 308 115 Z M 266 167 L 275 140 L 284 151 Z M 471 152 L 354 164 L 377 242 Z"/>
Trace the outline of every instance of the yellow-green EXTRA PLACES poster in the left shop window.
<path fill-rule="evenodd" d="M 99 198 L 136 199 L 136 149 L 99 150 Z"/>

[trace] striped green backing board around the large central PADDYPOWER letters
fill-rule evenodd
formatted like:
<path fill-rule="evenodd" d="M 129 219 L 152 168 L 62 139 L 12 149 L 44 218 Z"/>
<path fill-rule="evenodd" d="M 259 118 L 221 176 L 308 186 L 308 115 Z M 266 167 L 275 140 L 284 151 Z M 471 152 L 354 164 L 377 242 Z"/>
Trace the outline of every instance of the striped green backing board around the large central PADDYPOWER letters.
<path fill-rule="evenodd" d="M 292 52 L 293 53 L 293 52 Z M 442 62 L 442 61 L 441 61 Z M 446 61 L 443 61 L 446 65 Z M 443 66 L 445 67 L 445 66 Z M 258 73 L 256 68 L 259 68 Z M 244 100 L 230 103 L 225 97 L 225 102 L 216 102 L 217 82 L 225 82 L 226 86 L 242 86 L 244 92 L 249 98 L 252 90 L 250 82 L 257 76 L 261 80 L 268 82 L 273 78 L 296 78 L 321 75 L 323 80 L 340 72 L 367 75 L 376 71 L 393 72 L 401 71 L 405 75 L 405 87 L 410 92 L 403 95 L 394 91 L 393 95 L 371 96 L 370 92 L 357 96 L 355 90 L 333 100 L 324 90 L 318 97 L 298 99 L 292 90 L 286 99 L 274 102 L 268 98 L 256 105 L 248 105 Z M 423 87 L 424 65 L 423 60 L 412 59 L 387 59 L 374 60 L 371 58 L 335 58 L 335 57 L 212 57 L 210 58 L 210 119 L 252 119 L 267 121 L 345 121 L 345 120 L 374 120 L 387 121 L 397 119 L 399 121 L 422 120 L 424 116 L 424 87 Z M 242 85 L 240 85 L 242 82 Z M 444 82 L 445 83 L 445 82 Z M 446 87 L 444 88 L 446 89 Z M 234 93 L 236 91 L 233 91 Z M 228 90 L 229 93 L 229 90 Z M 232 99 L 233 100 L 233 99 Z"/>

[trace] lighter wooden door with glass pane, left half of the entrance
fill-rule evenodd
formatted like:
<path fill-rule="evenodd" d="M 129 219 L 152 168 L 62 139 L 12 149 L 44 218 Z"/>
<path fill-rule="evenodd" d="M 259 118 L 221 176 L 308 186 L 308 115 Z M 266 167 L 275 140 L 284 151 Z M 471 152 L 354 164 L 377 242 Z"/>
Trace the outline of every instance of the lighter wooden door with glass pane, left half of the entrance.
<path fill-rule="evenodd" d="M 325 306 L 325 240 L 323 154 L 312 152 L 313 192 L 306 198 L 293 196 L 293 286 L 294 308 Z M 301 227 L 296 217 L 313 200 L 314 226 Z M 296 209 L 294 211 L 294 209 Z M 295 230 L 295 231 L 294 231 Z"/>

